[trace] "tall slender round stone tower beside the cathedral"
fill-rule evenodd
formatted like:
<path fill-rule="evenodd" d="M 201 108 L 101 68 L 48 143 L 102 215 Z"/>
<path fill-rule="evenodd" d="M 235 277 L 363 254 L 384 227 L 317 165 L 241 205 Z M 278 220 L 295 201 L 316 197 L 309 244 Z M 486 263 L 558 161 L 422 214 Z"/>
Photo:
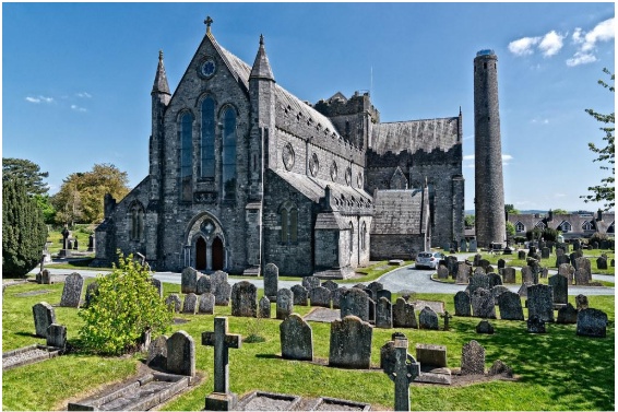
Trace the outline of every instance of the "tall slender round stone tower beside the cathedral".
<path fill-rule="evenodd" d="M 474 195 L 478 246 L 504 244 L 504 183 L 498 105 L 498 57 L 480 50 L 474 59 Z"/>

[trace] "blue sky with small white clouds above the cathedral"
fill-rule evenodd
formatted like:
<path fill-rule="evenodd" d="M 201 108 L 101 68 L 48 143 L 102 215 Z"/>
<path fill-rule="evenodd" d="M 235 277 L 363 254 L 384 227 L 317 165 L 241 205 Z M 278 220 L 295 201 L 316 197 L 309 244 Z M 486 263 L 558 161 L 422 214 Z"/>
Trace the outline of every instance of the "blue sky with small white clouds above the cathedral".
<path fill-rule="evenodd" d="M 609 3 L 3 3 L 2 156 L 49 172 L 111 163 L 131 186 L 148 170 L 158 50 L 175 90 L 214 20 L 252 63 L 264 35 L 275 80 L 304 101 L 370 91 L 382 121 L 463 113 L 466 209 L 474 209 L 473 59 L 498 56 L 504 197 L 518 209 L 596 210 L 605 177 L 585 114 L 614 111 L 597 85 L 615 69 Z"/>

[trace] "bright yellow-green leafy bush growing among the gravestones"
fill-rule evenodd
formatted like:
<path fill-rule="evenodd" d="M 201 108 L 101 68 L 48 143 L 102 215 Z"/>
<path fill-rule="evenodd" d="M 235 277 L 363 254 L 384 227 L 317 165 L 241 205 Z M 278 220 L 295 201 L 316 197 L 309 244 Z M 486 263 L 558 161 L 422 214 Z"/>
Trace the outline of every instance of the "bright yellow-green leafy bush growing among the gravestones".
<path fill-rule="evenodd" d="M 84 320 L 80 339 L 85 350 L 119 355 L 134 351 L 144 331 L 152 336 L 167 331 L 171 313 L 151 283 L 148 269 L 132 255 L 120 256 L 118 267 L 98 275 L 97 282 L 98 293 L 79 311 Z"/>

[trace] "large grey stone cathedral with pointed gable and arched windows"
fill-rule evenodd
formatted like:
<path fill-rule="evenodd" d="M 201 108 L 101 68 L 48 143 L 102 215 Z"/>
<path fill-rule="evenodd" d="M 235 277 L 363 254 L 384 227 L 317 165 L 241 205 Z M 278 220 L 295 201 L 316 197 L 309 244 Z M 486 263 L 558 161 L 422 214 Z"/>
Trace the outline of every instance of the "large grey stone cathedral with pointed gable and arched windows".
<path fill-rule="evenodd" d="M 304 102 L 276 82 L 263 37 L 248 64 L 205 23 L 174 93 L 159 52 L 150 172 L 105 198 L 94 264 L 121 250 L 158 271 L 341 279 L 463 238 L 461 110 L 380 122 L 368 93 Z"/>

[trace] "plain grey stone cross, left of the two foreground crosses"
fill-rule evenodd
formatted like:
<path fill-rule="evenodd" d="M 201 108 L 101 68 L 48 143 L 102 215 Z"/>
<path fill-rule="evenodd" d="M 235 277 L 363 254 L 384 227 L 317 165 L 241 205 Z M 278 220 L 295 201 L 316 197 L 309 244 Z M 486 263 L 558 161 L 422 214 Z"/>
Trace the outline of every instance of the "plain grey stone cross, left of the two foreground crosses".
<path fill-rule="evenodd" d="M 227 333 L 227 317 L 215 317 L 214 332 L 202 333 L 202 344 L 215 348 L 214 392 L 206 398 L 206 409 L 229 411 L 236 408 L 237 397 L 229 392 L 229 348 L 240 349 L 240 334 Z M 222 409 L 223 408 L 223 409 Z"/>

